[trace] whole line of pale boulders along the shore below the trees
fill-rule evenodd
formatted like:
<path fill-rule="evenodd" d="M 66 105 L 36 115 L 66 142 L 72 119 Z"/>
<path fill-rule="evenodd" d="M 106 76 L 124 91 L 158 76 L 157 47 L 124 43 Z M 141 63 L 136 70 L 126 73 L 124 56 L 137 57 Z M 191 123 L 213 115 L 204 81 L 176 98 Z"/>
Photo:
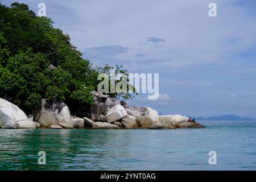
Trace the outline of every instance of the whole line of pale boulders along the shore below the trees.
<path fill-rule="evenodd" d="M 88 117 L 72 116 L 61 101 L 43 99 L 40 110 L 26 115 L 18 106 L 0 98 L 0 127 L 8 129 L 176 129 L 203 128 L 181 115 L 158 115 L 151 107 L 131 107 L 127 102 L 93 91 L 94 104 Z"/>

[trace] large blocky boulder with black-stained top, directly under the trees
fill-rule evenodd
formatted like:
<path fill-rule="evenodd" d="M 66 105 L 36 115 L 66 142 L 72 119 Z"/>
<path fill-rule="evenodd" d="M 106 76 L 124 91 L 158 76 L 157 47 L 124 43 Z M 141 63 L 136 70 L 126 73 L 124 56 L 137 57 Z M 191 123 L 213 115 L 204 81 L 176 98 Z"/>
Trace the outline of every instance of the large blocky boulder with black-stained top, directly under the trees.
<path fill-rule="evenodd" d="M 59 123 L 71 122 L 71 114 L 68 106 L 61 101 L 43 99 L 41 110 L 36 115 L 36 122 L 39 122 L 42 127 L 51 125 L 59 125 Z"/>

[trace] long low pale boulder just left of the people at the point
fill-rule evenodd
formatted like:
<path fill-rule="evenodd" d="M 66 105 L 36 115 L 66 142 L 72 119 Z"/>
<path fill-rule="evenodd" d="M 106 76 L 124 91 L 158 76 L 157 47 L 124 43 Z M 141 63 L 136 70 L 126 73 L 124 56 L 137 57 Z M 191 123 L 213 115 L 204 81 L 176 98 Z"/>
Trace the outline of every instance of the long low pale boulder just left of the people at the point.
<path fill-rule="evenodd" d="M 188 121 L 188 117 L 183 117 L 182 115 L 160 115 L 160 122 L 168 123 L 176 127 L 177 124 Z"/>

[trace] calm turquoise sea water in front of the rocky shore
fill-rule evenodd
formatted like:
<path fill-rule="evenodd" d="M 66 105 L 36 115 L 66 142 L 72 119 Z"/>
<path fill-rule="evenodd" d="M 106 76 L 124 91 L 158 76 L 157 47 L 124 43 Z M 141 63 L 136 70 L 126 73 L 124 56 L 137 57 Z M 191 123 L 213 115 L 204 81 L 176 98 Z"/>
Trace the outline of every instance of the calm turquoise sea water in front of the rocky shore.
<path fill-rule="evenodd" d="M 0 129 L 0 170 L 256 170 L 256 122 L 200 123 L 206 129 Z"/>

